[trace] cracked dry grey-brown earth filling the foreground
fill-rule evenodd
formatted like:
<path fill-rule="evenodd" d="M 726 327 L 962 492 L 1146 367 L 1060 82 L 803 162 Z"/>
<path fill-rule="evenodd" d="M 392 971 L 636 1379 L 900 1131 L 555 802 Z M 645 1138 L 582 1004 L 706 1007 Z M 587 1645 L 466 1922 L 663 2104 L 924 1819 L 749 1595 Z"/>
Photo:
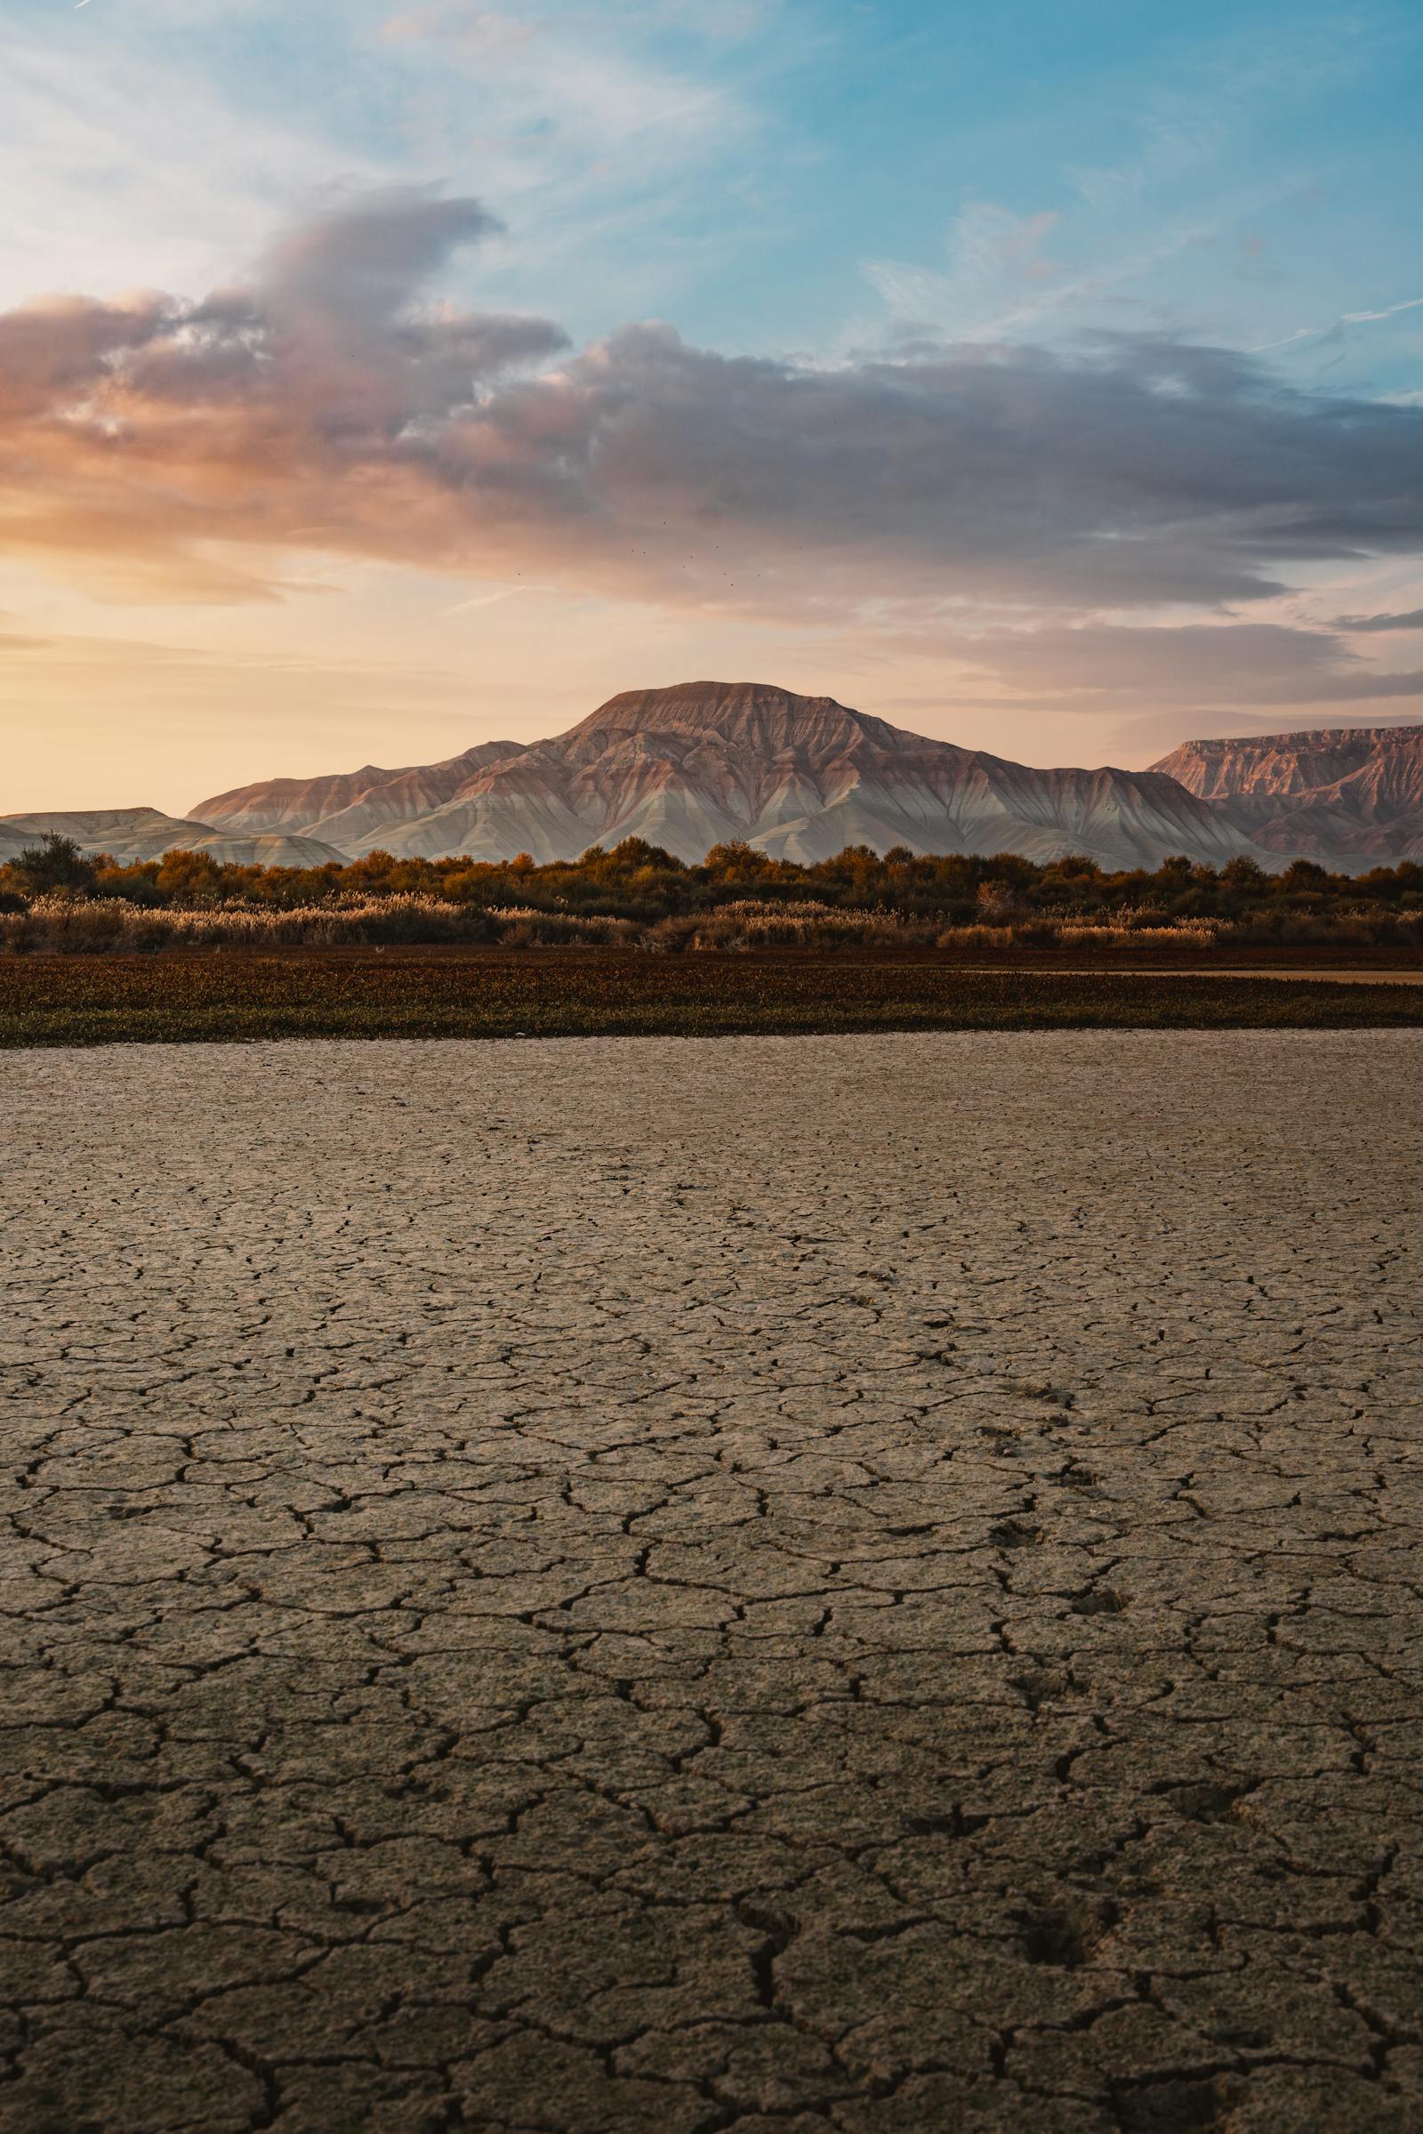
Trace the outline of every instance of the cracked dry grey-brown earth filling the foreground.
<path fill-rule="evenodd" d="M 11 1054 L 6 2134 L 1417 2130 L 1421 1063 Z"/>

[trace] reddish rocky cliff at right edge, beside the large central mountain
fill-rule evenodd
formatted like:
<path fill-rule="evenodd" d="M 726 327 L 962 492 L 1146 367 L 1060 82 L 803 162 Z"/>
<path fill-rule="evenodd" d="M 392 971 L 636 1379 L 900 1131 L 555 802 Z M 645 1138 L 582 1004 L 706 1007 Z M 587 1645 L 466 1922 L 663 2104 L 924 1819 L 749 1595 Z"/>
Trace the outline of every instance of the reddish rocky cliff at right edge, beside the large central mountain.
<path fill-rule="evenodd" d="M 1267 851 L 1331 866 L 1423 858 L 1423 726 L 1186 740 L 1152 766 Z"/>

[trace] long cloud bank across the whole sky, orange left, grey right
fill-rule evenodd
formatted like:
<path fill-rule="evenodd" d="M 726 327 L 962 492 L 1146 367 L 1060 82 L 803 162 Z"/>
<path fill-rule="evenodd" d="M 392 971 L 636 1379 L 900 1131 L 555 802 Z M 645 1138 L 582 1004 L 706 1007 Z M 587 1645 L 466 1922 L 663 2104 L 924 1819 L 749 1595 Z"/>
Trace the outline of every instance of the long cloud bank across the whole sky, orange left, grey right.
<path fill-rule="evenodd" d="M 254 288 L 2 316 L 11 538 L 169 570 L 309 538 L 787 619 L 1222 604 L 1423 548 L 1423 410 L 1122 337 L 819 369 L 629 327 L 548 369 L 550 320 L 422 301 L 493 228 L 384 192 L 286 237 Z"/>

